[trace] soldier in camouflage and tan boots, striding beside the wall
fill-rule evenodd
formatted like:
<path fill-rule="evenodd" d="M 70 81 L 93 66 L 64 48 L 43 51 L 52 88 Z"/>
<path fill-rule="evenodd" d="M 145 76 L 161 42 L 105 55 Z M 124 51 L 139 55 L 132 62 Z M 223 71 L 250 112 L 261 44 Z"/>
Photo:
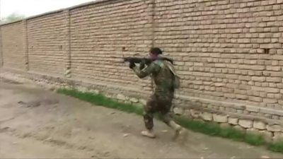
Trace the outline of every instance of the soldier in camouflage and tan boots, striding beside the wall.
<path fill-rule="evenodd" d="M 153 114 L 159 112 L 162 121 L 175 130 L 175 137 L 177 137 L 183 128 L 173 121 L 170 114 L 175 90 L 173 86 L 174 74 L 170 69 L 168 61 L 158 59 L 159 54 L 162 54 L 162 51 L 158 47 L 153 47 L 149 50 L 149 56 L 151 59 L 154 59 L 154 61 L 145 69 L 140 69 L 131 62 L 129 64 L 129 68 L 132 69 L 139 78 L 151 75 L 155 83 L 154 93 L 144 107 L 143 116 L 146 130 L 141 131 L 141 135 L 150 138 L 156 137 L 153 131 Z"/>

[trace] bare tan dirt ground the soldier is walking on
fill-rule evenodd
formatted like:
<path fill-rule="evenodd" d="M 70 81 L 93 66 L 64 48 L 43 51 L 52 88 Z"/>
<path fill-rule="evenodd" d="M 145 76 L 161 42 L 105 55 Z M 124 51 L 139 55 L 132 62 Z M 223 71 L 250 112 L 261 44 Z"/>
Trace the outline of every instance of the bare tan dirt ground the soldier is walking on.
<path fill-rule="evenodd" d="M 27 84 L 0 83 L 0 158 L 283 158 L 192 131 L 173 141 L 171 129 L 155 126 L 158 138 L 147 139 L 135 114 Z"/>

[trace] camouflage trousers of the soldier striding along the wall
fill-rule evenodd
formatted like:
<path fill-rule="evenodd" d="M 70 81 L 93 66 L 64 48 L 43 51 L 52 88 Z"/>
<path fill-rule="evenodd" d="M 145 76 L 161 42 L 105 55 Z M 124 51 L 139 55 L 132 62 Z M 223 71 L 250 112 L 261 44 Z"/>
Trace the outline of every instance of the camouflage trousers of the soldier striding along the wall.
<path fill-rule="evenodd" d="M 154 93 L 150 96 L 149 100 L 144 106 L 143 114 L 146 129 L 151 130 L 154 127 L 154 113 L 156 112 L 159 112 L 159 117 L 164 123 L 169 124 L 169 122 L 172 120 L 170 111 L 173 96 L 173 94 L 158 95 L 158 93 Z"/>

